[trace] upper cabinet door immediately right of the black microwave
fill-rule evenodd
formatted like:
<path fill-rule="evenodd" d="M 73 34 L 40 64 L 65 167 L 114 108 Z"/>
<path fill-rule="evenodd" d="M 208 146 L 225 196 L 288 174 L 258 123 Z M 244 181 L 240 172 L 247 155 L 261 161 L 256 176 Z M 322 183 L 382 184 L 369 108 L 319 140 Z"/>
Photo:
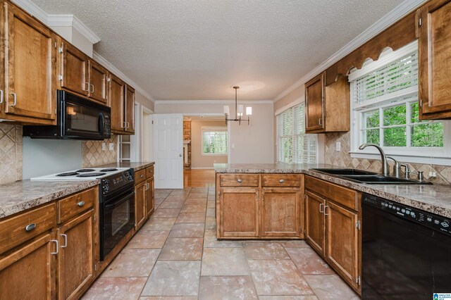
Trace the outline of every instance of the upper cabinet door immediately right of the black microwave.
<path fill-rule="evenodd" d="M 113 74 L 109 75 L 110 106 L 111 106 L 111 130 L 123 132 L 124 124 L 124 92 L 125 83 Z"/>

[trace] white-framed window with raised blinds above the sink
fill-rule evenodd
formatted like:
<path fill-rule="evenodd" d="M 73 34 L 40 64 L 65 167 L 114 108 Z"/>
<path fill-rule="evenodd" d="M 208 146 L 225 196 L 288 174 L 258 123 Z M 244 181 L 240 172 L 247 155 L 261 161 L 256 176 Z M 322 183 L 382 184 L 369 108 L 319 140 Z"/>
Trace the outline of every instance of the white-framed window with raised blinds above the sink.
<path fill-rule="evenodd" d="M 375 158 L 379 144 L 400 161 L 450 164 L 450 123 L 419 120 L 418 46 L 383 55 L 349 76 L 352 157 Z"/>

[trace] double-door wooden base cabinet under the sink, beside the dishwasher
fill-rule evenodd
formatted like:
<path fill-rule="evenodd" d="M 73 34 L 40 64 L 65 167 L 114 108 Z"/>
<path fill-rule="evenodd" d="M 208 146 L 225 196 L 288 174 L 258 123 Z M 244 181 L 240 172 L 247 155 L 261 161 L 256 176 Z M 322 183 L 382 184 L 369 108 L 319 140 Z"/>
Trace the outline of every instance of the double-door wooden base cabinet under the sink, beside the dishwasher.
<path fill-rule="evenodd" d="M 361 215 L 359 206 L 353 206 L 357 192 L 306 176 L 304 198 L 307 242 L 360 292 Z"/>

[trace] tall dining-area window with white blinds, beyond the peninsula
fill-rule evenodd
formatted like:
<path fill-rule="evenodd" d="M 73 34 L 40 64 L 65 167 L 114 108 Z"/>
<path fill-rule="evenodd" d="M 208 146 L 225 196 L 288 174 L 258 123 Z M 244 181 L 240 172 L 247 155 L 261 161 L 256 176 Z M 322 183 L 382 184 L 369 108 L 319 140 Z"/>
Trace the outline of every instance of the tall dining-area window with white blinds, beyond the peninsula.
<path fill-rule="evenodd" d="M 276 116 L 276 156 L 280 163 L 316 163 L 317 136 L 307 135 L 304 104 Z"/>

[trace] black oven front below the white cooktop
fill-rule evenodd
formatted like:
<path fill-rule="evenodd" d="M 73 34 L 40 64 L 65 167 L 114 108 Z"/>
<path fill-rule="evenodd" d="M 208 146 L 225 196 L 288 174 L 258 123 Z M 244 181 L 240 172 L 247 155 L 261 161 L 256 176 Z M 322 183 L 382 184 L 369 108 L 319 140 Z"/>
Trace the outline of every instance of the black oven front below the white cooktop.
<path fill-rule="evenodd" d="M 101 179 L 100 260 L 135 227 L 135 180 L 133 171 Z"/>

